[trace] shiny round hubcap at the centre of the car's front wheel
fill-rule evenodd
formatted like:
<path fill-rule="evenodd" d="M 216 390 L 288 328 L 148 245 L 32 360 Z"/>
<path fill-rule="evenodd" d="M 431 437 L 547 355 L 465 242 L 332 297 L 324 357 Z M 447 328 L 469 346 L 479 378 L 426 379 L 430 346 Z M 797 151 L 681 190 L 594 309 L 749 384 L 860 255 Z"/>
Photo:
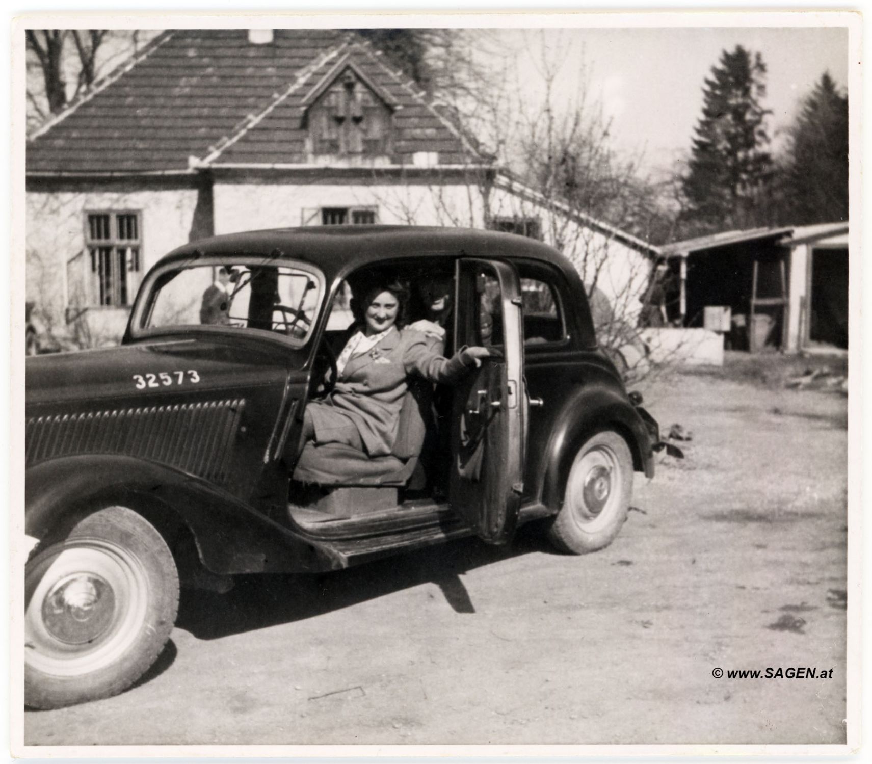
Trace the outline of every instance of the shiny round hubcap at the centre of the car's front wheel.
<path fill-rule="evenodd" d="M 74 574 L 51 588 L 42 611 L 45 629 L 52 637 L 67 645 L 85 645 L 112 624 L 115 595 L 101 576 Z"/>

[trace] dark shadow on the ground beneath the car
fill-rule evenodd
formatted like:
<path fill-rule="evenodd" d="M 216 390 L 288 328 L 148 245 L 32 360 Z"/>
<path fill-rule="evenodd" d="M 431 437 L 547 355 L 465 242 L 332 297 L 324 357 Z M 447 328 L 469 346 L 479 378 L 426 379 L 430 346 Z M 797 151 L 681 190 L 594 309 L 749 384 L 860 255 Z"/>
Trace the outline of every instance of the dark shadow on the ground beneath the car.
<path fill-rule="evenodd" d="M 460 576 L 534 553 L 555 554 L 535 524 L 521 529 L 508 547 L 467 538 L 331 573 L 235 576 L 227 594 L 183 590 L 176 625 L 198 639 L 217 639 L 342 610 L 422 583 L 439 586 L 454 611 L 474 613 Z"/>

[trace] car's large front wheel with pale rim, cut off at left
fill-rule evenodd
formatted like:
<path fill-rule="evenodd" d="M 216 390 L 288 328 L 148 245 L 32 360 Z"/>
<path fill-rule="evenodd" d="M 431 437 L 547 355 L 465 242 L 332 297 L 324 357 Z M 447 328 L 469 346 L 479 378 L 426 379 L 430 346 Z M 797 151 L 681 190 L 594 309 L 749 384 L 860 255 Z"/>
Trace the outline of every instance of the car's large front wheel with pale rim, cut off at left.
<path fill-rule="evenodd" d="M 28 561 L 24 701 L 35 708 L 106 698 L 160 655 L 179 605 L 162 536 L 124 507 L 88 515 Z"/>

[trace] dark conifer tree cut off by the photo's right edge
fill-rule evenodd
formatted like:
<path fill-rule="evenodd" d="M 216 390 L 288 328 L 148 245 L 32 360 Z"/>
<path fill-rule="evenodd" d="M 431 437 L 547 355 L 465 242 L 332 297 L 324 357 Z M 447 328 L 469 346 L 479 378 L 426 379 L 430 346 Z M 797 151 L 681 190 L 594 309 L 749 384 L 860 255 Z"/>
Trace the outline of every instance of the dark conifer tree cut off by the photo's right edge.
<path fill-rule="evenodd" d="M 790 128 L 781 180 L 787 222 L 848 220 L 848 97 L 825 72 Z"/>

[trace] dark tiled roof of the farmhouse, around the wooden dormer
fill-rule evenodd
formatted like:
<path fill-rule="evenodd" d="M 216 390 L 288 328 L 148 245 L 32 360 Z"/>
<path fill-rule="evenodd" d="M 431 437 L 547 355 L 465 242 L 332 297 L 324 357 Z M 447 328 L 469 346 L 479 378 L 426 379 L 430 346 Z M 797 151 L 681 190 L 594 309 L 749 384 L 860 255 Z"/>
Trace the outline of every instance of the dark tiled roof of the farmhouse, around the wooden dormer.
<path fill-rule="evenodd" d="M 393 161 L 463 159 L 448 123 L 351 32 L 276 30 L 272 43 L 252 44 L 246 30 L 174 30 L 37 132 L 27 171 L 186 170 L 189 157 L 305 163 L 303 98 L 344 56 L 394 102 Z"/>

